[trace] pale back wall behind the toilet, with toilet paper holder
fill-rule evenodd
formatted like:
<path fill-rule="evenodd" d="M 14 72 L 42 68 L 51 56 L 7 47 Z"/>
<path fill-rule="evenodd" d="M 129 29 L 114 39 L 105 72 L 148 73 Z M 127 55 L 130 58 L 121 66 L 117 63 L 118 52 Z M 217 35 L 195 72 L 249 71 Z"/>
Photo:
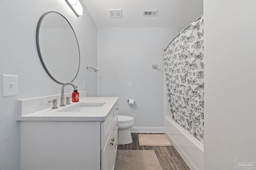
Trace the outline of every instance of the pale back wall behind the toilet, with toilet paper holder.
<path fill-rule="evenodd" d="M 98 96 L 118 96 L 134 127 L 164 126 L 163 49 L 181 28 L 98 28 Z M 158 64 L 161 70 L 153 70 Z M 128 88 L 132 82 L 132 88 Z M 134 99 L 129 106 L 127 100 Z"/>

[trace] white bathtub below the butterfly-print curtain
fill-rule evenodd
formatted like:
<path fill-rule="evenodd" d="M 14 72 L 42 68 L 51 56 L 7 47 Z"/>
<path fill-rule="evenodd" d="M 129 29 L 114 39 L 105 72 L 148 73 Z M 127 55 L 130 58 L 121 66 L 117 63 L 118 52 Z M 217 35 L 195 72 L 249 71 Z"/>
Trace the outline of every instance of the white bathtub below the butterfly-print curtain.
<path fill-rule="evenodd" d="M 172 120 L 172 117 L 165 116 L 164 133 L 191 170 L 204 170 L 204 144 Z"/>

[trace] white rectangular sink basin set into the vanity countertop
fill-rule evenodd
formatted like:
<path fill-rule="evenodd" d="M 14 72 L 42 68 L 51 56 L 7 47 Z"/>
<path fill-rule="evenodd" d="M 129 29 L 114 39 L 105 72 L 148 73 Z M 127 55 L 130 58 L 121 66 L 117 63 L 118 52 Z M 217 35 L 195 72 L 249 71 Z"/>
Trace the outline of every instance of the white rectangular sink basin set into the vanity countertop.
<path fill-rule="evenodd" d="M 88 111 L 97 111 L 105 103 L 80 103 L 74 106 L 62 109 L 60 111 L 66 112 L 88 112 Z"/>

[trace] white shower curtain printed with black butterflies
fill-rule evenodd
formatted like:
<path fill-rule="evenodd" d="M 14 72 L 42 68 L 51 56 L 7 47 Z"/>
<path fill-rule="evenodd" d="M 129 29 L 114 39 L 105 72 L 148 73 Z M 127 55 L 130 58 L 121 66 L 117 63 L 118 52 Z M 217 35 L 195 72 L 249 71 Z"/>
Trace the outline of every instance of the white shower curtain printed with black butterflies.
<path fill-rule="evenodd" d="M 204 20 L 182 31 L 164 50 L 171 116 L 204 143 Z"/>

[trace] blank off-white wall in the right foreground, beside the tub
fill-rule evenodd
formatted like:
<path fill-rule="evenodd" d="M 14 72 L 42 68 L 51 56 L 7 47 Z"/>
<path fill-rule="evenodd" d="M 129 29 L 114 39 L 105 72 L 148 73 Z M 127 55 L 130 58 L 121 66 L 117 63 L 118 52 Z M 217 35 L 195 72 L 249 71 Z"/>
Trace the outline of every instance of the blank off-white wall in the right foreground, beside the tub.
<path fill-rule="evenodd" d="M 204 169 L 256 163 L 256 1 L 205 0 Z"/>

